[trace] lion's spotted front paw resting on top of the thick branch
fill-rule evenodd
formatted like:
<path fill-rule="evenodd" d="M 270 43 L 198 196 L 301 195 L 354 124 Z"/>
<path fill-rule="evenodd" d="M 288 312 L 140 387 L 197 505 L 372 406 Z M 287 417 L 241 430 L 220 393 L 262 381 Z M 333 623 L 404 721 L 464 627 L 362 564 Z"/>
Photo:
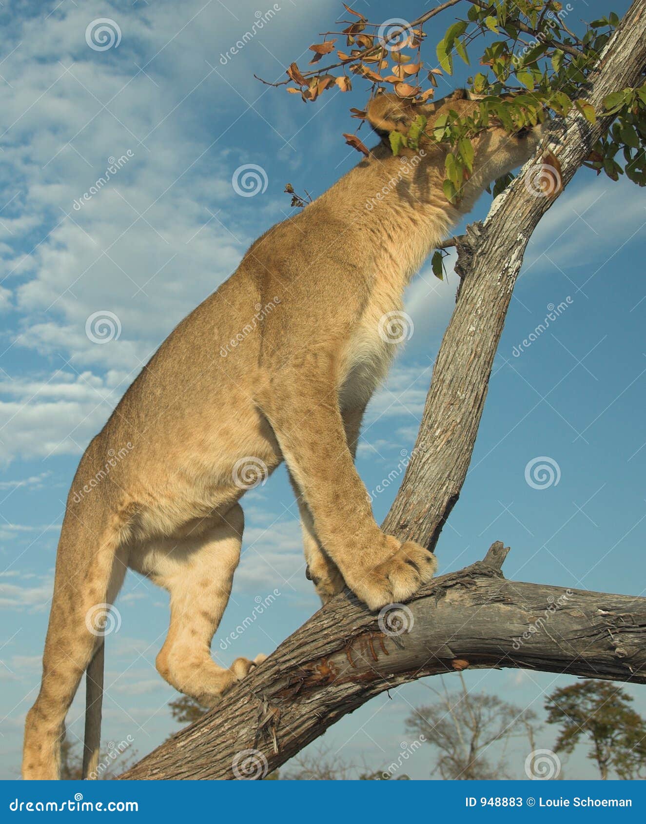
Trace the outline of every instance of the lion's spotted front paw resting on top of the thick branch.
<path fill-rule="evenodd" d="M 433 578 L 436 569 L 438 560 L 432 552 L 414 541 L 406 541 L 390 558 L 367 569 L 352 589 L 371 610 L 378 610 L 410 598 Z"/>

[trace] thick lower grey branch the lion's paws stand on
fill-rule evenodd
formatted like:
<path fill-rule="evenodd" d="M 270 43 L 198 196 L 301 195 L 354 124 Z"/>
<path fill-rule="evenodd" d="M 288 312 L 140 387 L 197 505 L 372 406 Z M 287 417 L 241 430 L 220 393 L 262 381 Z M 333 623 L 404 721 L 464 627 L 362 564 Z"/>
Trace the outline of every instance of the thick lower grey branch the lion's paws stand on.
<path fill-rule="evenodd" d="M 345 592 L 121 778 L 260 778 L 372 696 L 466 667 L 646 683 L 646 598 L 508 581 L 506 552 L 494 544 L 381 618 Z"/>

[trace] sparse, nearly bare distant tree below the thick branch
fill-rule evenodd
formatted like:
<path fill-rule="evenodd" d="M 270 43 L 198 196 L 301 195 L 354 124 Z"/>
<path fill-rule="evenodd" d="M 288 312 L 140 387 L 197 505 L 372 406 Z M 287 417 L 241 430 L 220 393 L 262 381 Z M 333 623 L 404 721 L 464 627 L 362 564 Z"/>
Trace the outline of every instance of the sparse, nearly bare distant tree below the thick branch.
<path fill-rule="evenodd" d="M 462 677 L 461 690 L 455 693 L 449 693 L 446 686 L 443 692 L 428 689 L 438 701 L 414 709 L 405 723 L 410 733 L 423 737 L 438 751 L 438 763 L 431 775 L 438 772 L 445 780 L 509 778 L 506 744 L 528 730 L 533 740 L 536 714 L 508 704 L 497 695 L 470 693 Z M 503 752 L 494 762 L 490 747 L 497 742 L 503 743 Z"/>

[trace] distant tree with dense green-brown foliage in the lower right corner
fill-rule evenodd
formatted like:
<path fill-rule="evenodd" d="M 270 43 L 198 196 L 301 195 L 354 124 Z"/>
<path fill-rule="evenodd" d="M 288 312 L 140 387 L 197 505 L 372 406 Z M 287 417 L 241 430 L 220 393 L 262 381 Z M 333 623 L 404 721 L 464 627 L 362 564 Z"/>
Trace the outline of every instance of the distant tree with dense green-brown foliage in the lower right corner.
<path fill-rule="evenodd" d="M 579 681 L 545 700 L 548 723 L 559 724 L 556 752 L 571 753 L 590 742 L 587 757 L 603 780 L 611 769 L 621 779 L 646 775 L 646 721 L 630 707 L 633 699 L 612 681 Z"/>

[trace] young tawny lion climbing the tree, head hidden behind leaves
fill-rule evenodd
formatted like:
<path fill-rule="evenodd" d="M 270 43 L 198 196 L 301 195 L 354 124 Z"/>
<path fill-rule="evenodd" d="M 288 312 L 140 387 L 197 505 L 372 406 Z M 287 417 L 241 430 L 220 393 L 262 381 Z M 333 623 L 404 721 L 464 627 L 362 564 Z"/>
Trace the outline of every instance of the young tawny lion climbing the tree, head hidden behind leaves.
<path fill-rule="evenodd" d="M 377 96 L 367 116 L 382 143 L 255 241 L 235 274 L 164 341 L 91 441 L 59 541 L 24 778 L 59 775 L 65 715 L 86 670 L 84 775 L 96 769 L 103 682 L 96 616 L 115 600 L 128 568 L 171 594 L 157 670 L 177 690 L 212 706 L 263 660 L 236 658 L 223 669 L 210 655 L 240 559 L 238 502 L 253 480 L 250 467 L 271 472 L 287 462 L 309 576 L 323 602 L 347 584 L 376 610 L 432 578 L 432 553 L 377 526 L 353 457 L 363 410 L 395 350 L 384 318 L 400 311 L 414 272 L 484 187 L 525 162 L 541 139 L 541 129 L 480 133 L 473 175 L 452 205 L 442 194 L 447 147 L 423 143 L 424 151 L 393 157 L 388 133 L 406 131 L 420 112 L 428 129 L 448 110 L 467 114 L 476 105 L 464 91 L 417 107 Z M 121 460 L 110 458 L 124 450 Z M 101 483 L 88 489 L 93 479 Z"/>

